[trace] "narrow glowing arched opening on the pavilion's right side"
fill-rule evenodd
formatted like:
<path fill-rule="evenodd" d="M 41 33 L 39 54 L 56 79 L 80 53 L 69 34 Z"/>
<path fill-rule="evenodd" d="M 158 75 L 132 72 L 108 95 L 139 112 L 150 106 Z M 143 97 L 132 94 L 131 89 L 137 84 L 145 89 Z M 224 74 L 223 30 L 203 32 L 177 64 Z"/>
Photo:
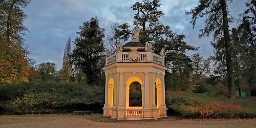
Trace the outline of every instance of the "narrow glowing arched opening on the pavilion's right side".
<path fill-rule="evenodd" d="M 163 99 L 162 99 L 162 82 L 160 78 L 156 79 L 156 105 L 158 109 L 161 109 L 163 106 Z"/>

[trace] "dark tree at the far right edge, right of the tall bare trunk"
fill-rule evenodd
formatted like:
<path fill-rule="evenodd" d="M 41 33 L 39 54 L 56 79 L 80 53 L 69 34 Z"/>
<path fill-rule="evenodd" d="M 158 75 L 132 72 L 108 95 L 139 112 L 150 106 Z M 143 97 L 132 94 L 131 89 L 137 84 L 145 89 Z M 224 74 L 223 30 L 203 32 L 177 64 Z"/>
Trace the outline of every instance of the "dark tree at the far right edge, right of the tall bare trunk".
<path fill-rule="evenodd" d="M 247 83 L 252 95 L 256 95 L 256 1 L 245 3 L 246 10 L 241 14 L 242 24 L 232 29 L 232 41 L 238 53 L 234 57 L 238 68 L 236 74 L 243 74 L 239 82 Z M 238 49 L 239 48 L 239 49 Z M 245 80 L 245 82 L 244 82 Z M 240 87 L 240 86 L 239 86 Z"/>

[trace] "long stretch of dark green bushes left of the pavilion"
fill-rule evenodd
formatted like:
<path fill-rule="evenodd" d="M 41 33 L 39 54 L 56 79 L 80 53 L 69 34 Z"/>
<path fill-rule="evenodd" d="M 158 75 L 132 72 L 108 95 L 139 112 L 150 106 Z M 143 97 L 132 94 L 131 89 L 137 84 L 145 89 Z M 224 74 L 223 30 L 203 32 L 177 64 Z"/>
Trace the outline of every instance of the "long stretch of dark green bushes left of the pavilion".
<path fill-rule="evenodd" d="M 0 114 L 102 112 L 104 88 L 69 82 L 23 82 L 0 86 Z"/>

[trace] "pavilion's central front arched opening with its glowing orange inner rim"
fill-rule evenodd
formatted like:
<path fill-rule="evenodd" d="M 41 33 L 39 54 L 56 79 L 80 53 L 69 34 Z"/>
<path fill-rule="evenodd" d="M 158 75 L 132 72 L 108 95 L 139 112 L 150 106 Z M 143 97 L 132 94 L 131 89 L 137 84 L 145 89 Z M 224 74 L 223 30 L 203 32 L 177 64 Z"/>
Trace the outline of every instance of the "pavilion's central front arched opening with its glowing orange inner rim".
<path fill-rule="evenodd" d="M 137 76 L 132 76 L 130 77 L 129 79 L 126 80 L 126 109 L 142 109 L 142 105 L 138 106 L 130 106 L 130 88 L 135 88 L 136 87 L 136 93 L 137 93 L 137 96 L 138 96 L 138 93 L 139 93 L 139 89 L 140 89 L 140 95 L 141 95 L 141 104 L 142 103 L 142 80 L 137 77 Z M 131 86 L 132 85 L 132 86 Z M 130 87 L 131 86 L 131 87 Z M 140 86 L 140 87 L 139 87 Z M 133 98 L 133 97 L 131 97 Z M 133 105 L 133 104 L 131 104 Z"/>

